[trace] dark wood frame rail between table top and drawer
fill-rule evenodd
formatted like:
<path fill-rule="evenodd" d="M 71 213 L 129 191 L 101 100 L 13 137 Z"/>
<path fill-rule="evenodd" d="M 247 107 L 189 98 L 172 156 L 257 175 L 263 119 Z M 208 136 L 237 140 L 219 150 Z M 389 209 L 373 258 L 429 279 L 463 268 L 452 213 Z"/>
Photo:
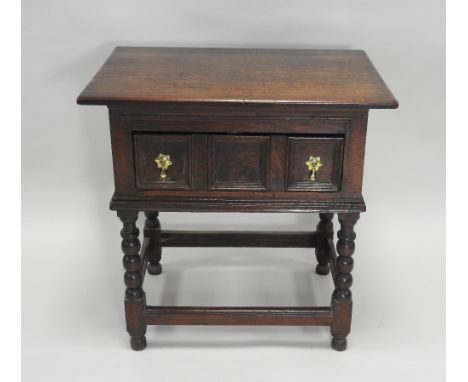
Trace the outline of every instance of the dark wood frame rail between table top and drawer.
<path fill-rule="evenodd" d="M 111 106 L 135 131 L 173 133 L 344 134 L 356 114 L 356 111 L 343 114 L 338 110 L 317 114 L 317 110 L 310 106 L 304 109 L 304 105 L 297 105 L 293 115 L 289 112 L 276 116 L 276 105 L 268 109 L 252 109 L 246 105 L 239 110 L 239 106 L 237 109 L 232 106 L 211 109 L 206 104 L 181 104 L 179 108 L 181 114 L 167 104 L 153 107 L 141 105 L 138 108 Z M 209 115 L 199 115 L 203 111 Z M 192 115 L 197 118 L 194 119 Z"/>

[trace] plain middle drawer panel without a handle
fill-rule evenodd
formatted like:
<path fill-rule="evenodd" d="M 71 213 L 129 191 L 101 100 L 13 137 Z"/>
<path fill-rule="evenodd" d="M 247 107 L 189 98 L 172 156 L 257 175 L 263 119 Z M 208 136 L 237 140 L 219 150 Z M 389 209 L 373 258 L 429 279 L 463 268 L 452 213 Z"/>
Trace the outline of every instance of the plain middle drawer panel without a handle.
<path fill-rule="evenodd" d="M 208 137 L 208 190 L 267 190 L 270 137 Z"/>

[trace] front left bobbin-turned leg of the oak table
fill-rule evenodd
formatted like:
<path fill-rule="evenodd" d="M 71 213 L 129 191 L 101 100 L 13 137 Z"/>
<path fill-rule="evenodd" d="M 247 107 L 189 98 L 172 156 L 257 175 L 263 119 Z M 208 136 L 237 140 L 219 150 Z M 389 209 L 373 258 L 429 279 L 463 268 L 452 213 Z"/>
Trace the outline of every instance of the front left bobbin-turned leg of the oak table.
<path fill-rule="evenodd" d="M 127 331 L 130 334 L 130 345 L 133 350 L 146 347 L 146 324 L 143 320 L 143 309 L 146 304 L 140 272 L 140 241 L 135 223 L 138 211 L 118 211 L 117 216 L 123 223 L 122 236 L 123 265 L 125 268 L 125 316 Z"/>

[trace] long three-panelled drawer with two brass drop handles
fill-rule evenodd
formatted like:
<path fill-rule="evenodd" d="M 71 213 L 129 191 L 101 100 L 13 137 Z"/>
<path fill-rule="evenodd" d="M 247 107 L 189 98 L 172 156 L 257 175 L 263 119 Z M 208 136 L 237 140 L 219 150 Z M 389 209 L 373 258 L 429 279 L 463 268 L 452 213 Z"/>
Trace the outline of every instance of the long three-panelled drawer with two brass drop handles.
<path fill-rule="evenodd" d="M 342 135 L 133 134 L 137 190 L 338 192 Z"/>

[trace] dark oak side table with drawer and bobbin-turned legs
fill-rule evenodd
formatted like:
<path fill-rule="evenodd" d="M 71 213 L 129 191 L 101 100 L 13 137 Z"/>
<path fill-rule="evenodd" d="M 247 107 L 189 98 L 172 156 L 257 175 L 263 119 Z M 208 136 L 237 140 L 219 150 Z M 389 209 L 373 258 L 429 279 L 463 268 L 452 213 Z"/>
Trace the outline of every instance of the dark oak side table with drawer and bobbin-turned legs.
<path fill-rule="evenodd" d="M 147 325 L 321 325 L 346 348 L 367 116 L 398 107 L 364 51 L 118 47 L 77 102 L 109 110 L 132 349 L 146 347 Z M 165 231 L 159 211 L 313 212 L 320 222 L 315 232 Z M 331 304 L 149 306 L 143 281 L 161 273 L 163 247 L 315 248 Z"/>

